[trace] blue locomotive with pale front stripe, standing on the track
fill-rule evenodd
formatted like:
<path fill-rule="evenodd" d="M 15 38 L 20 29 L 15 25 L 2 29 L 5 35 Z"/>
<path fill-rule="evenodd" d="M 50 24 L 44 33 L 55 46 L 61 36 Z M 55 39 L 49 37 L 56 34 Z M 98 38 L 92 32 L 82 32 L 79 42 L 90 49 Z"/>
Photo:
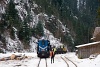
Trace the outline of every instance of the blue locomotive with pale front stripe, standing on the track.
<path fill-rule="evenodd" d="M 47 58 L 50 56 L 50 49 L 51 49 L 51 45 L 50 45 L 50 41 L 49 40 L 38 40 L 37 43 L 37 56 L 38 57 L 44 57 Z"/>

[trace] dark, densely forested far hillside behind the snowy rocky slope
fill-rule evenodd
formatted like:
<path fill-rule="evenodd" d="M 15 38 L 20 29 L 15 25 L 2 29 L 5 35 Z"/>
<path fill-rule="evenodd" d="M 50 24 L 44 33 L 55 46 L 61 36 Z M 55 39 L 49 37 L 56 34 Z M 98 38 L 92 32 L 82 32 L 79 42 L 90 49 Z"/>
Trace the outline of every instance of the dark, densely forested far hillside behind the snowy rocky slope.
<path fill-rule="evenodd" d="M 36 0 L 36 3 L 48 15 L 55 15 L 69 28 L 74 44 L 70 43 L 68 35 L 64 35 L 63 42 L 69 42 L 69 45 L 91 42 L 93 30 L 98 26 L 98 0 Z"/>

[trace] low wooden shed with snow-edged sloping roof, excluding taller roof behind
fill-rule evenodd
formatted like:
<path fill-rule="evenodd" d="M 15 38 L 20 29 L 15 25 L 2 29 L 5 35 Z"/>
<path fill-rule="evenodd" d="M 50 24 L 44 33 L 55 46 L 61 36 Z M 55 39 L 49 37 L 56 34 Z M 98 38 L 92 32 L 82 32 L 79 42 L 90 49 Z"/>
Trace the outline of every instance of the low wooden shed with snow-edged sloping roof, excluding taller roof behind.
<path fill-rule="evenodd" d="M 100 41 L 76 46 L 78 58 L 88 58 L 90 55 L 100 53 Z"/>

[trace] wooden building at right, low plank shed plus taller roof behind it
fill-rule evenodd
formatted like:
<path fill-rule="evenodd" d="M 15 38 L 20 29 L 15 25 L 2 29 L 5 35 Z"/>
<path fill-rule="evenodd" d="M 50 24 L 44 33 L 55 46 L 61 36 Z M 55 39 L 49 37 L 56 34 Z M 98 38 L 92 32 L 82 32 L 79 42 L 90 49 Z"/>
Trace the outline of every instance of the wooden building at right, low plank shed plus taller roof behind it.
<path fill-rule="evenodd" d="M 78 45 L 78 58 L 88 58 L 92 54 L 100 53 L 100 27 L 96 27 L 91 38 L 95 42 Z"/>

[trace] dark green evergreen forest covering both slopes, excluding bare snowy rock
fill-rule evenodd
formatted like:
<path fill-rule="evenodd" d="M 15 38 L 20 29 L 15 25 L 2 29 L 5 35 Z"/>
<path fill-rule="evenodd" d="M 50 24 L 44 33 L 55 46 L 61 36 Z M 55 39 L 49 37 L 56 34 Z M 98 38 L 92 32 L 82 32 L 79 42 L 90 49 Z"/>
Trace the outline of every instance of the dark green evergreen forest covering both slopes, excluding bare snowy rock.
<path fill-rule="evenodd" d="M 92 42 L 91 38 L 95 27 L 100 26 L 100 1 L 98 0 L 28 0 L 30 5 L 34 2 L 38 4 L 38 8 L 35 9 L 35 13 L 40 12 L 46 13 L 49 17 L 54 15 L 56 19 L 61 20 L 61 22 L 69 29 L 69 33 L 56 35 L 59 29 L 55 27 L 55 21 L 47 23 L 46 28 L 53 33 L 57 38 L 61 37 L 61 42 L 68 47 L 71 47 L 72 50 L 76 45 Z M 22 0 L 23 2 L 23 0 Z M 14 33 L 16 31 L 13 27 L 18 29 L 17 35 L 18 38 L 25 44 L 29 44 L 31 36 L 36 38 L 43 36 L 43 21 L 39 20 L 37 26 L 33 28 L 28 24 L 32 20 L 32 15 L 30 14 L 30 8 L 27 4 L 24 4 L 24 7 L 27 11 L 27 15 L 23 14 L 23 21 L 18 16 L 18 11 L 15 9 L 15 4 L 13 0 L 7 4 L 5 13 L 1 16 L 0 23 L 0 33 L 9 31 L 11 38 L 15 39 Z M 52 27 L 52 29 L 51 29 Z M 56 32 L 54 32 L 54 30 Z M 0 39 L 5 41 L 1 35 Z"/>

